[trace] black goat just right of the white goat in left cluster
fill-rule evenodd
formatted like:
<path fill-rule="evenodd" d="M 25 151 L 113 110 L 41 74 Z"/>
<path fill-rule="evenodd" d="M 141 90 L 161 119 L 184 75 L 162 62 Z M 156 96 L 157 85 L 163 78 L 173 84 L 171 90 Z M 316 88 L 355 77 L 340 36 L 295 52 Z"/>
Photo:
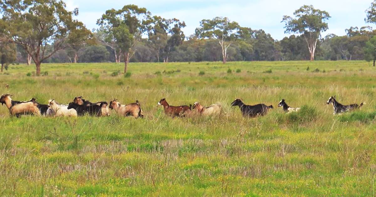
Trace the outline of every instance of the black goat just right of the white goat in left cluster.
<path fill-rule="evenodd" d="M 99 105 L 78 105 L 74 102 L 69 103 L 68 110 L 75 109 L 78 116 L 89 114 L 90 116 L 109 116 L 110 110 L 107 102 L 100 102 Z"/>

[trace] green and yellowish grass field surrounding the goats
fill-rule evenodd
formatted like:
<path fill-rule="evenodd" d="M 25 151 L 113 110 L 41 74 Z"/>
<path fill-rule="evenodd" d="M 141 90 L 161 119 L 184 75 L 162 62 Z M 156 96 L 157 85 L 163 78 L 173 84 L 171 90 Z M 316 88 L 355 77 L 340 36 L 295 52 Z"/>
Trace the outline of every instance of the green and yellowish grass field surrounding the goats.
<path fill-rule="evenodd" d="M 231 69 L 231 71 L 229 71 Z M 0 93 L 60 103 L 141 102 L 145 118 L 9 117 L 0 108 L 0 195 L 374 196 L 376 68 L 362 61 L 12 65 Z M 200 73 L 201 72 L 201 73 Z M 29 74 L 28 74 L 29 73 Z M 199 74 L 200 73 L 200 74 Z M 47 74 L 47 73 L 46 73 Z M 9 89 L 5 89 L 9 84 Z M 333 116 L 327 99 L 366 102 Z M 220 102 L 220 117 L 157 106 Z M 275 108 L 247 119 L 235 98 Z M 300 113 L 277 108 L 285 98 Z"/>

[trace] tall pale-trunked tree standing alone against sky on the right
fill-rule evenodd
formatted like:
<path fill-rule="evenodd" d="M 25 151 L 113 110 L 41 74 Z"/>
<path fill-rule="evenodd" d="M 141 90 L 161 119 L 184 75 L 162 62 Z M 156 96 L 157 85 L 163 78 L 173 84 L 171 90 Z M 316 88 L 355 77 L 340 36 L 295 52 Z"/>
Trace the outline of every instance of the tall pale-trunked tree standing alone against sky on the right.
<path fill-rule="evenodd" d="M 325 21 L 329 18 L 328 12 L 314 9 L 312 5 L 304 5 L 294 12 L 294 18 L 284 16 L 282 22 L 285 23 L 285 33 L 303 35 L 312 61 L 315 59 L 316 45 L 321 32 L 328 29 L 328 24 Z"/>

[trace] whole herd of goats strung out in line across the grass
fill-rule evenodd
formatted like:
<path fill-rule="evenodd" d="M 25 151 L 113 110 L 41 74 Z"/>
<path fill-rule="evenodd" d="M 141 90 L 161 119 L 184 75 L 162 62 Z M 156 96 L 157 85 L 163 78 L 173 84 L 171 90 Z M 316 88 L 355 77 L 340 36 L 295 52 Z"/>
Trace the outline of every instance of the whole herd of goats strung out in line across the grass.
<path fill-rule="evenodd" d="M 0 98 L 0 103 L 8 107 L 9 112 L 12 116 L 21 117 L 22 115 L 31 114 L 35 116 L 109 116 L 111 110 L 121 116 L 133 116 L 135 118 L 144 117 L 143 111 L 141 110 L 141 105 L 138 101 L 135 103 L 122 105 L 117 99 L 108 104 L 105 101 L 92 103 L 86 101 L 82 96 L 78 96 L 73 99 L 68 105 L 62 105 L 55 100 L 49 100 L 49 104 L 39 104 L 36 102 L 35 98 L 30 99 L 30 101 L 14 101 L 11 98 L 12 95 L 6 94 L 2 95 Z M 362 107 L 365 103 L 342 105 L 335 99 L 335 96 L 331 96 L 327 101 L 327 104 L 332 104 L 334 108 L 334 114 L 340 114 L 354 109 Z M 221 105 L 213 104 L 208 107 L 202 106 L 199 102 L 195 102 L 194 105 L 181 105 L 181 106 L 171 106 L 167 103 L 166 99 L 161 99 L 158 105 L 164 107 L 165 114 L 173 117 L 181 117 L 190 113 L 191 111 L 197 111 L 199 114 L 204 116 L 219 115 L 221 113 Z M 244 117 L 256 117 L 264 116 L 268 113 L 269 109 L 273 109 L 273 105 L 257 104 L 257 105 L 246 105 L 242 99 L 235 99 L 231 103 L 231 106 L 238 106 Z M 286 113 L 297 112 L 300 108 L 293 108 L 287 105 L 285 99 L 279 102 L 278 107 L 282 107 Z"/>

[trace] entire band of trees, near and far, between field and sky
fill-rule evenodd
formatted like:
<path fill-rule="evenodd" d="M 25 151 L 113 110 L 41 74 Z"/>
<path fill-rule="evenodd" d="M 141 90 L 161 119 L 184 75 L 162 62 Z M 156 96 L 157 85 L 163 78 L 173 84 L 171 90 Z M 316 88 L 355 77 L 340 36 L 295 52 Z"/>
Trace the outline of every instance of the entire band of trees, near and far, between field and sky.
<path fill-rule="evenodd" d="M 61 0 L 0 1 L 0 58 L 41 63 L 54 62 L 200 62 L 284 60 L 373 60 L 376 36 L 370 27 L 350 27 L 346 36 L 321 33 L 329 29 L 328 12 L 303 5 L 285 15 L 285 33 L 276 40 L 264 30 L 241 27 L 226 17 L 200 21 L 193 35 L 185 35 L 184 21 L 152 15 L 146 8 L 125 5 L 107 10 L 89 31 L 67 11 Z M 376 0 L 365 21 L 376 23 Z"/>

